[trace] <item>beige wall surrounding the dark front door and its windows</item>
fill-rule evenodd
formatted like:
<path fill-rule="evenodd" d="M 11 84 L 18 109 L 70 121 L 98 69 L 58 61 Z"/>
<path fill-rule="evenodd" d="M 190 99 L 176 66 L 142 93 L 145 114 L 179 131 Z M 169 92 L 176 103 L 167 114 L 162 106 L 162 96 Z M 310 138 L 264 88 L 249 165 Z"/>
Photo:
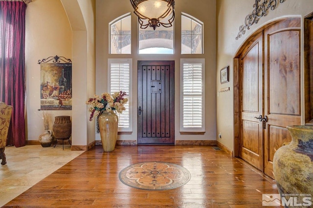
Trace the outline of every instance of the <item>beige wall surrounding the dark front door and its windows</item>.
<path fill-rule="evenodd" d="M 107 92 L 108 58 L 132 58 L 133 60 L 133 133 L 119 135 L 118 139 L 137 139 L 137 61 L 175 60 L 175 137 L 176 140 L 215 140 L 216 138 L 216 0 L 178 0 L 175 4 L 175 54 L 138 55 L 137 18 L 129 0 L 96 0 L 96 93 Z M 198 6 L 201 5 L 201 6 Z M 114 9 L 118 8 L 118 9 Z M 132 12 L 132 55 L 109 55 L 109 22 Z M 204 23 L 204 54 L 180 54 L 180 14 L 187 13 Z M 157 29 L 156 29 L 157 30 Z M 205 58 L 205 134 L 180 135 L 179 94 L 180 58 Z M 99 139 L 99 135 L 97 135 Z"/>

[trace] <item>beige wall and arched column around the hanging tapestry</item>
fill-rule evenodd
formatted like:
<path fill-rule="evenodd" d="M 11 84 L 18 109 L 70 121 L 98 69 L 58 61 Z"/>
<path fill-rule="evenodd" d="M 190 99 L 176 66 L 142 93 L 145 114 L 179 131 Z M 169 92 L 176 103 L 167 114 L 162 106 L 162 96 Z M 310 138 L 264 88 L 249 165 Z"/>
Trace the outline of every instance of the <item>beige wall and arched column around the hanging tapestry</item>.
<path fill-rule="evenodd" d="M 48 111 L 70 115 L 72 144 L 86 146 L 95 140 L 85 101 L 95 92 L 95 0 L 33 0 L 26 9 L 27 140 L 43 132 L 40 109 L 38 59 L 64 56 L 72 60 L 72 111 Z M 84 78 L 82 78 L 84 77 Z M 75 113 L 72 113 L 75 112 Z"/>

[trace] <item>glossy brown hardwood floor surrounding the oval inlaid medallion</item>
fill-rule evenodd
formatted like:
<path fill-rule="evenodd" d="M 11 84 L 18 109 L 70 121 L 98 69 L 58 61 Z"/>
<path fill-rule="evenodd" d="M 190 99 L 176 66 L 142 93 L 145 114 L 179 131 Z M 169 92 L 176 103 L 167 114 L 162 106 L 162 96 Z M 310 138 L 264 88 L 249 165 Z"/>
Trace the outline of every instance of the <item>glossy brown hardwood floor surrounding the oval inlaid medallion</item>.
<path fill-rule="evenodd" d="M 142 190 L 118 174 L 146 161 L 183 166 L 190 181 L 176 189 Z M 277 194 L 275 181 L 212 146 L 96 146 L 68 162 L 5 207 L 261 208 L 262 194 Z M 279 206 L 278 206 L 279 207 Z"/>

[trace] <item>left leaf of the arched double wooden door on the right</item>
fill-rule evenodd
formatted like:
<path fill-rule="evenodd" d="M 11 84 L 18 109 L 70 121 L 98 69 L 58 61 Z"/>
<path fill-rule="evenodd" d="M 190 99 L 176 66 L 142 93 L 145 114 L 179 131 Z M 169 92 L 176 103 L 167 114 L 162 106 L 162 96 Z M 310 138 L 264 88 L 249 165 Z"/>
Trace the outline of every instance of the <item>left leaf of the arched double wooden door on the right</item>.
<path fill-rule="evenodd" d="M 263 167 L 263 129 L 258 118 L 263 115 L 263 35 L 259 33 L 239 59 L 241 147 L 240 157 L 259 170 Z"/>

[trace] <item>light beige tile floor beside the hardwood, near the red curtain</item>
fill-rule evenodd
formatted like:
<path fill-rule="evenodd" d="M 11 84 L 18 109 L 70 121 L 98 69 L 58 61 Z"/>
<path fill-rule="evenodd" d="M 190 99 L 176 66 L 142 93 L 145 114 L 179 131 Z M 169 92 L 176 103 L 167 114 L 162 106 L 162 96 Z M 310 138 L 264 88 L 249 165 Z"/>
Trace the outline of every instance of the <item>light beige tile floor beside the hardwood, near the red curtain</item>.
<path fill-rule="evenodd" d="M 84 151 L 70 145 L 43 148 L 41 145 L 6 147 L 6 165 L 0 167 L 0 207 L 58 170 Z"/>

